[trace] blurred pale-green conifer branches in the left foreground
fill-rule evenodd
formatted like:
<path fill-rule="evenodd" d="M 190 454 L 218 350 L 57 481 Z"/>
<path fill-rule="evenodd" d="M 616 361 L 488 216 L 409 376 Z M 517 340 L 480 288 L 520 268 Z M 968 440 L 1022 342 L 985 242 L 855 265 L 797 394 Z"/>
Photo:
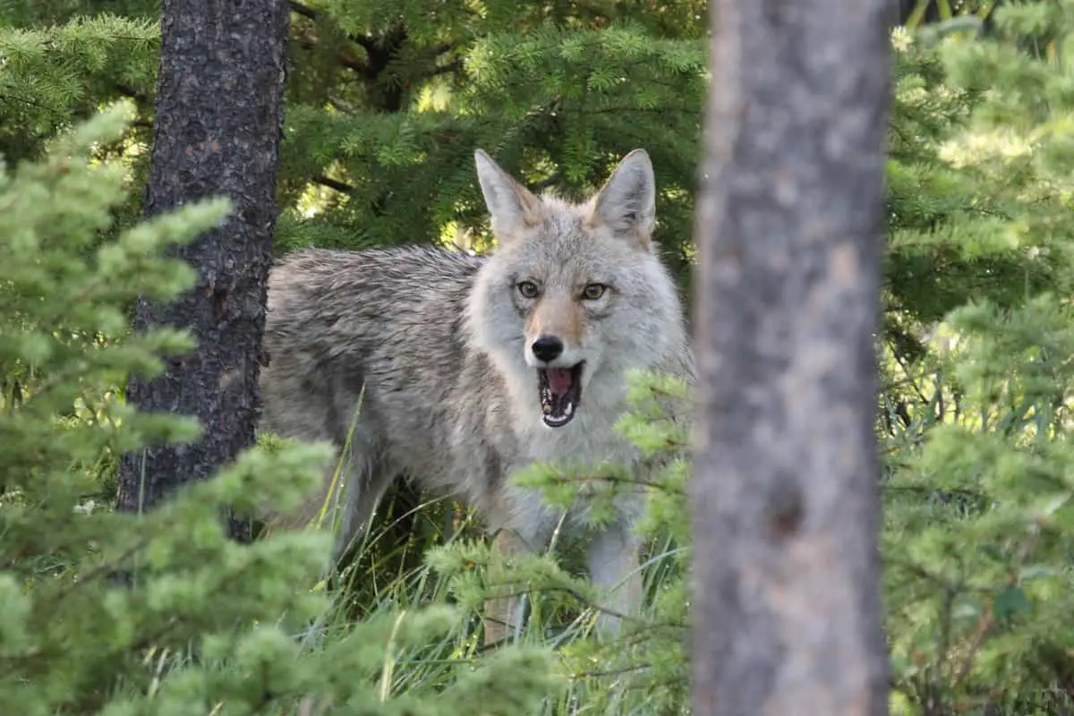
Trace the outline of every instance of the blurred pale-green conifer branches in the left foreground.
<path fill-rule="evenodd" d="M 508 651 L 476 670 L 459 660 L 435 700 L 398 693 L 394 661 L 452 632 L 456 615 L 441 605 L 325 624 L 329 598 L 313 588 L 325 536 L 228 539 L 221 508 L 293 508 L 326 445 L 247 451 L 144 515 L 92 499 L 103 452 L 195 433 L 191 418 L 117 399 L 126 375 L 153 375 L 191 342 L 168 327 L 129 335 L 125 306 L 188 290 L 195 274 L 169 249 L 229 209 L 190 204 L 102 242 L 125 173 L 92 147 L 114 142 L 129 114 L 110 109 L 0 175 L 0 366 L 40 377 L 0 410 L 0 713 L 533 713 L 554 692 L 543 654 Z M 71 406 L 76 415 L 58 418 Z M 130 583 L 110 579 L 117 571 Z M 508 678 L 510 690 L 490 688 Z"/>

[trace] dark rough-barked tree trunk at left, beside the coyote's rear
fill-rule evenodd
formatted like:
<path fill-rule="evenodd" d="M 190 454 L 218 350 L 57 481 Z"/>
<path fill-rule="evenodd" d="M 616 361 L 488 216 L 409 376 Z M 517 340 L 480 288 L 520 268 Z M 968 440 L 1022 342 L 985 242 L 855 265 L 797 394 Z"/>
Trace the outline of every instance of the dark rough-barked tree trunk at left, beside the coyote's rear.
<path fill-rule="evenodd" d="M 129 511 L 214 474 L 253 443 L 278 215 L 287 1 L 163 0 L 161 18 L 145 213 L 218 195 L 229 196 L 233 209 L 220 227 L 177 251 L 197 268 L 197 286 L 166 305 L 140 301 L 135 308 L 135 330 L 189 328 L 198 348 L 170 360 L 150 381 L 132 379 L 128 400 L 146 411 L 195 415 L 203 433 L 193 444 L 122 457 L 118 507 Z"/>

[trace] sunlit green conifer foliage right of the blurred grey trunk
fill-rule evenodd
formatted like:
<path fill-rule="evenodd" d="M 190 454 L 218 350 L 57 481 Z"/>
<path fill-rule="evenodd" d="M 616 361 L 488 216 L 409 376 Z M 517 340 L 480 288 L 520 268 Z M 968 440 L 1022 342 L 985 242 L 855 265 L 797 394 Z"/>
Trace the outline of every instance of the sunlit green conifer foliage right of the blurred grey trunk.
<path fill-rule="evenodd" d="M 993 23 L 988 39 L 918 55 L 964 103 L 940 166 L 918 176 L 973 201 L 891 237 L 933 295 L 960 304 L 918 332 L 924 350 L 889 344 L 881 415 L 895 703 L 924 714 L 1069 713 L 1074 697 L 1059 616 L 1074 608 L 1074 3 L 1007 4 Z M 948 273 L 959 254 L 969 271 Z"/>

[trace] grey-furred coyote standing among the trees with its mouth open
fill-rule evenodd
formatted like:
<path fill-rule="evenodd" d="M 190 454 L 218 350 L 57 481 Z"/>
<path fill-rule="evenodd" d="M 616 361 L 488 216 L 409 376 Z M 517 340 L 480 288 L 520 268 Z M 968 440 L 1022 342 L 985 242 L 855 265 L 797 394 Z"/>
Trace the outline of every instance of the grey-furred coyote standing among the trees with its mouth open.
<path fill-rule="evenodd" d="M 480 149 L 475 161 L 497 242 L 490 255 L 307 249 L 271 273 L 262 426 L 349 445 L 337 552 L 397 476 L 477 508 L 502 554 L 540 550 L 561 517 L 581 526 L 586 506 L 562 515 L 512 473 L 535 461 L 635 459 L 612 427 L 625 372 L 693 378 L 682 306 L 651 239 L 645 151 L 582 204 L 532 193 Z M 326 489 L 277 524 L 308 522 Z M 603 633 L 642 598 L 632 529 L 642 496 L 616 500 L 589 542 L 591 580 L 607 595 Z M 503 618 L 485 617 L 485 641 L 507 635 L 517 608 L 493 605 Z"/>

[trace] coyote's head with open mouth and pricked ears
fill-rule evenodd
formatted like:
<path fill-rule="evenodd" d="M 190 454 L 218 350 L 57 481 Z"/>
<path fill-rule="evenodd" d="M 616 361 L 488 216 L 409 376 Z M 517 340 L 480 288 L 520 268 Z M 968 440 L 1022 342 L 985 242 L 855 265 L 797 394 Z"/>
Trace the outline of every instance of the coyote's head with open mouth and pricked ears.
<path fill-rule="evenodd" d="M 680 339 L 674 284 L 651 240 L 652 163 L 632 151 L 571 204 L 535 195 L 480 149 L 475 159 L 498 246 L 478 275 L 469 330 L 512 384 L 529 385 L 545 425 L 563 427 L 583 392 L 621 395 L 626 369 L 650 367 Z"/>

